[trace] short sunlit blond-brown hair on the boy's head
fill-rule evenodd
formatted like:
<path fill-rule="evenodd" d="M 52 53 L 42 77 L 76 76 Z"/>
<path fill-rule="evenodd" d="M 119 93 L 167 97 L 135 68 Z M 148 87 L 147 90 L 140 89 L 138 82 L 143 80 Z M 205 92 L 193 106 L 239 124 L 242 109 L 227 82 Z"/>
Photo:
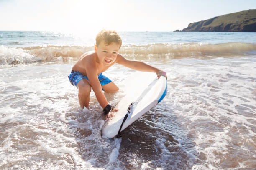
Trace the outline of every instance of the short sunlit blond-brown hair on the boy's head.
<path fill-rule="evenodd" d="M 96 36 L 96 46 L 104 41 L 105 45 L 110 45 L 113 42 L 119 45 L 119 48 L 122 45 L 121 37 L 115 32 L 115 30 L 101 30 Z"/>

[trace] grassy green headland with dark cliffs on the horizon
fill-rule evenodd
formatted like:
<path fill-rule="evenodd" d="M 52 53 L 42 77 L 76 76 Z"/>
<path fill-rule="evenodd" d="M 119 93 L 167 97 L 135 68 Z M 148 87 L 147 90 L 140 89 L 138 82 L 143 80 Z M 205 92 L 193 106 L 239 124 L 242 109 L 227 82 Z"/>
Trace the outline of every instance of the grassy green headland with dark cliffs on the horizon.
<path fill-rule="evenodd" d="M 256 32 L 256 9 L 230 13 L 195 23 L 182 31 Z"/>

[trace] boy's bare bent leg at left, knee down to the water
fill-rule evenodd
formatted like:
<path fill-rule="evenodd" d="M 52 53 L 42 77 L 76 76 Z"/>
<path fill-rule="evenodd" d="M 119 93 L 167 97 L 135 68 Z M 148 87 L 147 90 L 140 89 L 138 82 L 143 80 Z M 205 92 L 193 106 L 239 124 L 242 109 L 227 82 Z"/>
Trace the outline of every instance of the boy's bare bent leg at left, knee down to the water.
<path fill-rule="evenodd" d="M 90 93 L 92 90 L 91 85 L 89 82 L 85 79 L 81 80 L 77 84 L 78 88 L 78 100 L 81 108 L 84 108 L 89 106 L 90 102 Z"/>

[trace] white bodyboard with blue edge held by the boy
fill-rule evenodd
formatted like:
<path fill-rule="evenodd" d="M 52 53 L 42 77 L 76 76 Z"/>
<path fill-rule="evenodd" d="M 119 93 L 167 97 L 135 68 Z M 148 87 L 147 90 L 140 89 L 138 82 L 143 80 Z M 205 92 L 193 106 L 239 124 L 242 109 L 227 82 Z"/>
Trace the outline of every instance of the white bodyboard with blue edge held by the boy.
<path fill-rule="evenodd" d="M 159 103 L 167 92 L 166 77 L 161 76 L 158 79 L 155 73 L 150 72 L 135 72 L 131 77 L 124 80 L 123 84 L 125 84 L 125 96 L 116 105 L 118 112 L 114 113 L 115 116 L 103 125 L 102 136 L 113 138 L 118 134 L 120 125 L 131 103 L 133 105 L 130 107 L 130 114 L 121 131 Z"/>

